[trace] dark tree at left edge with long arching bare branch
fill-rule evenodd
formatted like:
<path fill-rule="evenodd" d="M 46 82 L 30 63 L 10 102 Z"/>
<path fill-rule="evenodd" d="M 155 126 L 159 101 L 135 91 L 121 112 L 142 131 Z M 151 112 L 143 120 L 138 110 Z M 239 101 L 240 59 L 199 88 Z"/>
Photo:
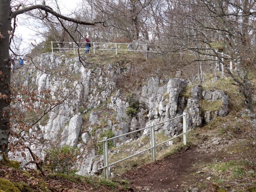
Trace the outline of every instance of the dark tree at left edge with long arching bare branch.
<path fill-rule="evenodd" d="M 63 28 L 65 26 L 62 24 L 61 20 L 67 22 L 72 22 L 80 25 L 96 25 L 102 24 L 106 19 L 95 22 L 86 22 L 79 19 L 63 16 L 60 13 L 54 11 L 50 6 L 42 1 L 42 4 L 28 4 L 28 6 L 20 3 L 18 5 L 12 5 L 11 2 L 6 2 L 5 0 L 0 0 L 0 111 L 1 111 L 1 123 L 0 123 L 0 146 L 1 150 L 7 155 L 8 152 L 8 138 L 10 135 L 10 102 L 11 100 L 11 90 L 10 90 L 10 78 L 11 78 L 11 60 L 9 56 L 10 43 L 14 37 L 17 16 L 20 14 L 25 14 L 33 10 L 40 10 L 40 19 L 46 19 L 48 17 L 55 16 L 58 22 Z M 35 16 L 36 17 L 36 16 Z M 11 23 L 13 22 L 13 27 Z M 66 32 L 67 29 L 65 28 Z M 69 34 L 70 35 L 70 34 Z M 13 54 L 14 50 L 10 49 Z"/>

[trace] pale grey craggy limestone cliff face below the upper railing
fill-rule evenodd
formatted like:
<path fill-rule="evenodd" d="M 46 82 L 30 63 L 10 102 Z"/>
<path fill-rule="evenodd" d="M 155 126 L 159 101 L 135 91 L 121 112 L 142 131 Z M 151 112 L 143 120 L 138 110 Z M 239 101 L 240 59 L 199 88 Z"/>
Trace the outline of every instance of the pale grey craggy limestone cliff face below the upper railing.
<path fill-rule="evenodd" d="M 63 102 L 48 113 L 44 123 L 39 121 L 30 132 L 37 130 L 41 140 L 50 141 L 55 146 L 80 148 L 83 155 L 78 173 L 81 175 L 101 174 L 97 169 L 103 166 L 103 157 L 97 154 L 95 143 L 106 130 L 117 136 L 183 112 L 188 113 L 187 129 L 191 129 L 209 123 L 218 115 L 225 116 L 229 111 L 229 97 L 225 92 L 202 90 L 201 86 L 193 87 L 185 79 L 151 77 L 140 91 L 127 93 L 114 79 L 121 73 L 130 72 L 129 63 L 125 67 L 121 63 L 109 63 L 107 67 L 87 68 L 77 57 L 42 54 L 37 65 L 41 70 L 32 68 L 23 73 L 26 76 L 23 84 L 41 92 L 41 99 L 35 105 L 45 107 L 42 100 L 46 98 Z M 50 91 L 45 93 L 45 90 Z M 202 109 L 201 104 L 205 103 L 218 103 L 218 108 Z M 180 118 L 155 126 L 155 131 L 173 136 L 182 130 L 182 126 Z M 148 135 L 149 131 L 120 137 L 114 140 L 114 145 Z M 50 148 L 49 144 L 30 146 L 41 159 L 44 159 L 44 150 Z M 28 152 L 26 156 L 29 159 Z"/>

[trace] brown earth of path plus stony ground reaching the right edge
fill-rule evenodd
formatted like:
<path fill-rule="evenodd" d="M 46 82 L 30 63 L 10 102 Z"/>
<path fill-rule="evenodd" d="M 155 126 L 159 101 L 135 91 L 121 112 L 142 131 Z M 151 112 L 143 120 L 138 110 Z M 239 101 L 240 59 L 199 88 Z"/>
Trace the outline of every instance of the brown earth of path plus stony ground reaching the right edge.
<path fill-rule="evenodd" d="M 212 137 L 208 141 L 202 141 L 192 149 L 146 164 L 119 177 L 129 180 L 131 191 L 202 191 L 206 189 L 209 180 L 210 182 L 218 180 L 213 173 L 205 169 L 207 165 L 216 162 L 248 161 L 247 159 L 252 159 L 251 155 L 253 153 L 251 152 L 229 152 L 233 150 L 236 143 L 244 141 L 244 138 Z M 253 160 L 255 163 L 255 156 Z M 256 170 L 253 166 L 248 166 L 245 169 Z M 227 175 L 227 178 L 230 177 L 230 173 L 224 174 Z M 232 181 L 235 183 L 232 183 Z M 256 186 L 255 178 L 229 179 L 225 181 L 220 179 L 217 182 L 226 191 L 232 189 L 238 191 Z"/>

